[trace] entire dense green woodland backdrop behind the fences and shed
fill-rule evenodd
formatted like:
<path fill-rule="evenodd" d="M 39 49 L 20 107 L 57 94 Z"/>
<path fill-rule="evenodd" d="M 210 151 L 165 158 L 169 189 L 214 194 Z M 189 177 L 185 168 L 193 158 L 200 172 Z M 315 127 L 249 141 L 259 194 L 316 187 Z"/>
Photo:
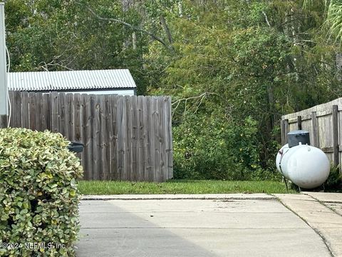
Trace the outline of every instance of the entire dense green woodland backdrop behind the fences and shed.
<path fill-rule="evenodd" d="M 128 68 L 138 94 L 172 96 L 178 178 L 264 179 L 276 177 L 281 115 L 341 95 L 341 11 L 323 0 L 8 0 L 7 41 L 14 71 Z"/>

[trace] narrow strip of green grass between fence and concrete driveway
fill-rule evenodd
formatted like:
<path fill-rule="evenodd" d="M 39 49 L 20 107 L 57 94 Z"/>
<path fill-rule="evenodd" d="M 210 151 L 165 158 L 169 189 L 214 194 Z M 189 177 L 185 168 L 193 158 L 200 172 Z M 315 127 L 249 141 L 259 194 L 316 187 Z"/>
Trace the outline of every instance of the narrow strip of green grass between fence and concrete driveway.
<path fill-rule="evenodd" d="M 78 188 L 84 195 L 160 194 L 160 193 L 296 193 L 286 191 L 277 181 L 185 181 L 164 183 L 127 181 L 80 181 Z"/>

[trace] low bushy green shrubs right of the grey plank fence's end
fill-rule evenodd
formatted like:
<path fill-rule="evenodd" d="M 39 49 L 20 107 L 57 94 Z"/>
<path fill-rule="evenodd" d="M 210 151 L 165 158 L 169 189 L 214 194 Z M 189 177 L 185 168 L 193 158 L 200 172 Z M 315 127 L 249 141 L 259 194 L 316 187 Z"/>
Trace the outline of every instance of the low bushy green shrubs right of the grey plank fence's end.
<path fill-rule="evenodd" d="M 263 173 L 259 165 L 257 122 L 249 117 L 238 125 L 192 115 L 174 136 L 175 178 L 255 180 L 276 175 Z"/>

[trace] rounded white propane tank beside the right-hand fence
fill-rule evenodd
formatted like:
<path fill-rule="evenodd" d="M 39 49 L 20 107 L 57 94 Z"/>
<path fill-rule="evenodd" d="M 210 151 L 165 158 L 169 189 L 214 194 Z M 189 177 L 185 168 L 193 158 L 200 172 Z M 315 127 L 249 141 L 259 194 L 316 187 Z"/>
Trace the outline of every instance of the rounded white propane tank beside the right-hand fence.
<path fill-rule="evenodd" d="M 276 155 L 276 168 L 280 173 L 301 188 L 316 188 L 326 181 L 330 162 L 321 149 L 302 145 L 281 147 Z"/>

